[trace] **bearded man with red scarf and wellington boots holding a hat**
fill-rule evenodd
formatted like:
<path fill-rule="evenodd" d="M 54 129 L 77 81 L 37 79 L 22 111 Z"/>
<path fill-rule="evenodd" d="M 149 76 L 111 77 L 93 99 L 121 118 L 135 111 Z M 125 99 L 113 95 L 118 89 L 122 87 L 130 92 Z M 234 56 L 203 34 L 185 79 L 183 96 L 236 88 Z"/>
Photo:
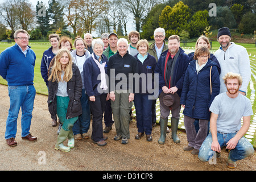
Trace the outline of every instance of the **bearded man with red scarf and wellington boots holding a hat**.
<path fill-rule="evenodd" d="M 180 102 L 181 91 L 183 87 L 183 80 L 185 71 L 189 64 L 189 57 L 183 49 L 180 48 L 180 38 L 177 35 L 172 35 L 168 38 L 168 50 L 164 51 L 158 60 L 155 68 L 155 73 L 159 74 L 159 101 L 160 101 L 160 139 L 159 144 L 164 144 L 166 139 L 166 130 L 168 123 L 168 116 L 172 110 L 171 129 L 172 139 L 175 143 L 180 143 L 177 137 L 177 126 L 180 118 L 180 104 L 176 109 L 167 108 L 163 103 L 164 96 L 168 94 L 177 94 L 177 100 L 173 102 Z M 163 92 L 162 92 L 163 91 Z"/>

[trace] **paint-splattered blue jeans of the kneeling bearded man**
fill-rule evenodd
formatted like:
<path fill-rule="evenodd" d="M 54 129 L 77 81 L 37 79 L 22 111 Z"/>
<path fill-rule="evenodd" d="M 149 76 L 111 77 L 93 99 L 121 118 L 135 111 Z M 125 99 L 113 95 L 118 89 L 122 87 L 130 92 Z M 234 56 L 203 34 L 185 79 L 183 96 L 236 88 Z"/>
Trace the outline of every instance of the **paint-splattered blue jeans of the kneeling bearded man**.
<path fill-rule="evenodd" d="M 218 143 L 220 143 L 221 147 L 225 147 L 226 143 L 228 143 L 228 141 L 232 139 L 236 134 L 237 133 L 224 134 L 224 133 L 217 132 Z M 210 149 L 211 146 L 212 146 L 212 134 L 209 133 L 209 135 L 201 145 L 199 155 L 198 155 L 199 159 L 202 162 L 207 162 L 209 159 L 212 159 L 214 152 Z M 230 150 L 229 159 L 231 159 L 233 162 L 236 162 L 237 160 L 247 158 L 253 154 L 254 154 L 254 149 L 252 144 L 245 137 L 242 137 L 238 141 L 236 148 L 234 148 L 233 150 Z"/>

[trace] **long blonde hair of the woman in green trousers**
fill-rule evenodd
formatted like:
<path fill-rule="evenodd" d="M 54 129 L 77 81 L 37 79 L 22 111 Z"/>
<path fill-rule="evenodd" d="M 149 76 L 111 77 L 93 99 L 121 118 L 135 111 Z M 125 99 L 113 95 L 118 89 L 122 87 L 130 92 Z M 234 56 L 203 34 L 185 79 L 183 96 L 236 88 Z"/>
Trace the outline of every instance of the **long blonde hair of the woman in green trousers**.
<path fill-rule="evenodd" d="M 61 64 L 60 64 L 60 58 L 61 56 L 63 56 L 63 54 L 67 52 L 68 53 L 68 64 L 66 65 L 66 67 L 64 68 L 64 70 L 61 69 Z M 55 62 L 51 68 L 51 75 L 49 76 L 48 80 L 50 81 L 66 81 L 68 82 L 69 80 L 71 80 L 72 76 L 73 76 L 73 71 L 72 71 L 72 55 L 70 53 L 70 51 L 67 48 L 61 48 L 59 50 L 59 52 L 56 55 L 55 58 Z M 61 73 L 62 71 L 64 71 L 64 77 L 63 80 L 61 79 Z"/>

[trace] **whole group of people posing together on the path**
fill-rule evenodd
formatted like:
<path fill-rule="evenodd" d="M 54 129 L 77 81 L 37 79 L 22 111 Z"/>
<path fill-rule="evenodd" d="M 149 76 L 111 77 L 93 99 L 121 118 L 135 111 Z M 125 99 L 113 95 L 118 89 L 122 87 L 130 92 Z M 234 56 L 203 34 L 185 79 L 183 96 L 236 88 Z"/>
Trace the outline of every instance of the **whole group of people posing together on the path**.
<path fill-rule="evenodd" d="M 69 152 L 75 147 L 75 139 L 89 138 L 91 117 L 94 143 L 105 146 L 108 137 L 104 133 L 109 133 L 114 123 L 114 140 L 127 144 L 133 103 L 138 127 L 135 139 L 146 134 L 146 140 L 151 142 L 159 98 L 159 144 L 165 143 L 166 133 L 170 132 L 167 126 L 170 111 L 171 137 L 180 143 L 177 129 L 182 106 L 188 140 L 184 151 L 208 161 L 212 158 L 211 151 L 220 156 L 221 147 L 225 146 L 230 150 L 229 168 L 236 167 L 237 160 L 254 154 L 253 146 L 243 137 L 253 115 L 250 101 L 245 97 L 250 80 L 246 49 L 230 42 L 227 27 L 218 30 L 220 49 L 214 55 L 205 36 L 200 36 L 195 52 L 188 55 L 180 47 L 179 36 L 170 36 L 167 44 L 165 36 L 163 28 L 156 28 L 155 42 L 149 45 L 147 40 L 140 40 L 137 31 L 130 32 L 130 44 L 124 38 L 118 39 L 114 32 L 102 34 L 100 39 L 87 33 L 84 39 L 76 38 L 73 50 L 71 39 L 49 35 L 51 47 L 43 53 L 41 73 L 48 87 L 52 126 L 57 126 L 57 118 L 60 122 L 56 150 Z M 15 46 L 0 55 L 0 75 L 9 85 L 10 109 L 5 134 L 9 146 L 17 144 L 20 107 L 22 139 L 36 140 L 30 133 L 35 53 L 28 46 L 26 31 L 18 30 L 14 37 Z M 67 138 L 66 147 L 63 142 Z"/>

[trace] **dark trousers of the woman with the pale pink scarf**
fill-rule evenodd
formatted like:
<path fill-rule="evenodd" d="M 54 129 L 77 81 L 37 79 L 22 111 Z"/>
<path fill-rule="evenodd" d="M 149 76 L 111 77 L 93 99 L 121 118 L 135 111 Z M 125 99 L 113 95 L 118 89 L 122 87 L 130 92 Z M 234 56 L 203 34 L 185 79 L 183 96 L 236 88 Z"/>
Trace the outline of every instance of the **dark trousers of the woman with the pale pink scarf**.
<path fill-rule="evenodd" d="M 95 101 L 89 101 L 90 110 L 92 111 L 92 139 L 98 142 L 103 139 L 102 119 L 106 105 L 106 94 L 95 96 Z"/>

